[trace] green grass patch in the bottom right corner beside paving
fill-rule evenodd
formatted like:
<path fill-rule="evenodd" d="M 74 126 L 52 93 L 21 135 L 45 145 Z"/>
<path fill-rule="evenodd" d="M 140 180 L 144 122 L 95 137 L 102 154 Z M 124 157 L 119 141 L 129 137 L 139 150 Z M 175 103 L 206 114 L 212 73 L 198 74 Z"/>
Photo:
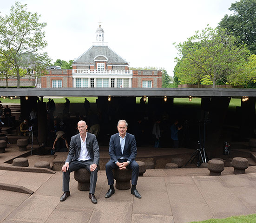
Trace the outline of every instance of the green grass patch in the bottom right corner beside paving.
<path fill-rule="evenodd" d="M 241 215 L 232 216 L 224 219 L 210 219 L 201 222 L 191 222 L 191 223 L 256 223 L 256 214 L 253 215 Z"/>

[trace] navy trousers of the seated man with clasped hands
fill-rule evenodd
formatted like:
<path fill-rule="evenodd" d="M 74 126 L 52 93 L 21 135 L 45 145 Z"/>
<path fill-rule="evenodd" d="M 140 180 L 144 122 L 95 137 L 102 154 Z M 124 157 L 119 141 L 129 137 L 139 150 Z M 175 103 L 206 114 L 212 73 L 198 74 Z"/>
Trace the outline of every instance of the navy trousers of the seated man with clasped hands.
<path fill-rule="evenodd" d="M 118 159 L 119 163 L 126 162 L 127 159 Z M 105 165 L 108 185 L 114 184 L 113 169 L 118 169 L 118 165 L 112 160 L 108 161 Z M 133 160 L 126 168 L 131 169 L 131 184 L 137 185 L 139 166 L 135 160 Z"/>

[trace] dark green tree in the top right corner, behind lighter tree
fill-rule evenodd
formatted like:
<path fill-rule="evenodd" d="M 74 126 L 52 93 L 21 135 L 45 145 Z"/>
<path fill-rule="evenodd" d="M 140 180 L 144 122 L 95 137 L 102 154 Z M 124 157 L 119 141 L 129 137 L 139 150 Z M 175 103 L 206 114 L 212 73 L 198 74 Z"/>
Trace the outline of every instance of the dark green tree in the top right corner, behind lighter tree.
<path fill-rule="evenodd" d="M 219 26 L 236 36 L 239 43 L 246 43 L 251 53 L 256 54 L 256 0 L 240 0 L 229 8 L 234 13 L 225 15 Z"/>

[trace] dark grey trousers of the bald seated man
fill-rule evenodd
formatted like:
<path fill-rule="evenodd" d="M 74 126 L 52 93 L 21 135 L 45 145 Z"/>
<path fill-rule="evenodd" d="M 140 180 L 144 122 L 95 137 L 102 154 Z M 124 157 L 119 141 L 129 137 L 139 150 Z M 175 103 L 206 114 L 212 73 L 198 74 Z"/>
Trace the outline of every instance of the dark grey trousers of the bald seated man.
<path fill-rule="evenodd" d="M 62 190 L 63 191 L 69 191 L 69 181 L 70 181 L 70 173 L 72 171 L 79 170 L 80 168 L 85 168 L 87 171 L 90 171 L 90 165 L 93 164 L 92 160 L 85 160 L 85 161 L 78 161 L 74 160 L 69 164 L 69 169 L 66 172 L 63 172 L 62 174 L 62 179 L 63 179 L 63 184 L 62 184 Z M 96 187 L 96 182 L 97 182 L 97 168 L 95 171 L 91 172 L 90 176 L 90 193 L 94 194 L 95 192 L 95 187 Z"/>

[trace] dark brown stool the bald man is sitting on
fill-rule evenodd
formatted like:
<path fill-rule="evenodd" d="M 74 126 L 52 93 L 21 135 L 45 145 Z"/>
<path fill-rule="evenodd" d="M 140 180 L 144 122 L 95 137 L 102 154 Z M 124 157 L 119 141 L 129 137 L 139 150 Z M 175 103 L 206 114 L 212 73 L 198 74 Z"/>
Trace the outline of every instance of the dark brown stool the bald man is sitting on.
<path fill-rule="evenodd" d="M 91 173 L 85 168 L 80 168 L 79 170 L 74 172 L 74 178 L 78 182 L 78 190 L 90 190 L 90 176 Z"/>

